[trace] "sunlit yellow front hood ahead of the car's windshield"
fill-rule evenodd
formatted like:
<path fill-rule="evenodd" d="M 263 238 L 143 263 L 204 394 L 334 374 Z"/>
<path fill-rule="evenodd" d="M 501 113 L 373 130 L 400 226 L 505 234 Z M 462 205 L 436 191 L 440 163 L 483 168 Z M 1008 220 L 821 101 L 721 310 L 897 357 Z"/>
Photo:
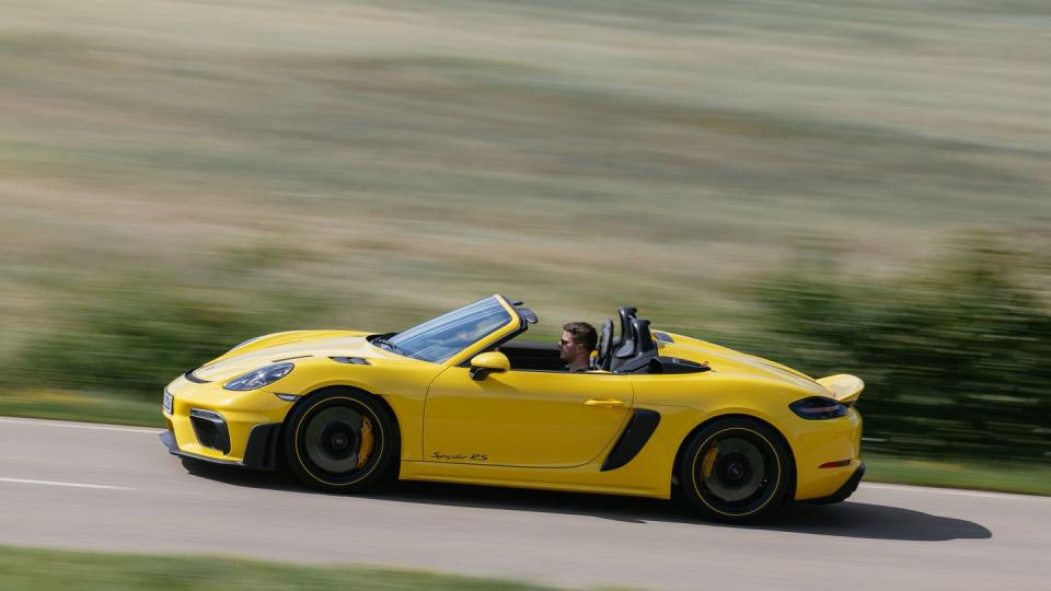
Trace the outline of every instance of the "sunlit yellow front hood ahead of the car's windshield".
<path fill-rule="evenodd" d="M 305 360 L 313 357 L 363 357 L 366 359 L 397 359 L 406 360 L 405 357 L 394 355 L 390 351 L 373 347 L 360 333 L 355 336 L 327 336 L 332 332 L 322 335 L 297 334 L 296 339 L 274 345 L 250 345 L 245 347 L 244 352 L 238 350 L 230 351 L 222 357 L 210 361 L 196 370 L 195 378 L 216 382 L 220 380 L 230 380 L 259 369 L 272 363 L 281 361 Z M 353 333 L 351 333 L 353 334 Z"/>

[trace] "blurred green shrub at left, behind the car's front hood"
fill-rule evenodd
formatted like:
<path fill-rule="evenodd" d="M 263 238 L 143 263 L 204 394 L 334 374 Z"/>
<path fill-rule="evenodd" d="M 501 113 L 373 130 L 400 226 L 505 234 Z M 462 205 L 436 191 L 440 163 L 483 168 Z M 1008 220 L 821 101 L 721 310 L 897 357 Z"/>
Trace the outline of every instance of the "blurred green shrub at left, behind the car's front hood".
<path fill-rule="evenodd" d="M 316 309 L 288 296 L 278 305 L 265 293 L 246 305 L 157 278 L 105 281 L 79 296 L 57 328 L 33 335 L 19 352 L 21 385 L 155 397 L 182 372 Z"/>

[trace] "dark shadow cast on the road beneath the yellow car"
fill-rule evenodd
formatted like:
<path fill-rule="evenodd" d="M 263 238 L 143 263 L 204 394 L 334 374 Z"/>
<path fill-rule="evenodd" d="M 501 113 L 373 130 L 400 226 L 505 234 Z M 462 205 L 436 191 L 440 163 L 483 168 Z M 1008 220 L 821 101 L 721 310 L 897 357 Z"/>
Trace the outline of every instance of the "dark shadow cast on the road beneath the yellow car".
<path fill-rule="evenodd" d="M 291 477 L 280 473 L 231 470 L 229 466 L 216 466 L 193 460 L 184 460 L 183 465 L 194 476 L 231 486 L 323 495 L 301 487 Z M 824 506 L 789 503 L 760 523 L 726 525 L 695 517 L 681 502 L 608 495 L 400 482 L 385 485 L 368 496 L 414 505 L 587 515 L 639 525 L 649 522 L 692 523 L 704 528 L 740 528 L 913 542 L 986 540 L 993 536 L 986 528 L 963 519 L 852 501 Z"/>

